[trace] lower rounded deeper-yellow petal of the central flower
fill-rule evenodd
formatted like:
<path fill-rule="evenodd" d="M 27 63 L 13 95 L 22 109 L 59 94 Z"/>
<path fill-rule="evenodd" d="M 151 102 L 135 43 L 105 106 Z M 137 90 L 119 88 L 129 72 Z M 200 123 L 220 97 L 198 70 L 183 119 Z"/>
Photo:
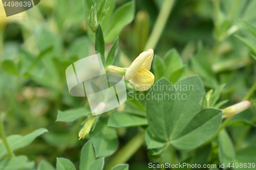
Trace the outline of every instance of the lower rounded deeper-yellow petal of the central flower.
<path fill-rule="evenodd" d="M 140 68 L 137 74 L 130 80 L 138 91 L 146 91 L 154 84 L 155 76 L 145 68 Z"/>

